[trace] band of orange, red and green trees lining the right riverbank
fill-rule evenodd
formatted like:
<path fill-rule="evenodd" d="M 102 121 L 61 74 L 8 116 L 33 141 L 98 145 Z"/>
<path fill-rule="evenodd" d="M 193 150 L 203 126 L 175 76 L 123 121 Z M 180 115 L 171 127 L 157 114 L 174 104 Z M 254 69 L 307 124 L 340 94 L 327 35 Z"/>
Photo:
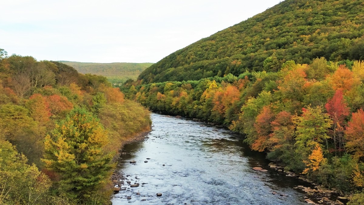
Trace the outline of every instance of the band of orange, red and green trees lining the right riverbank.
<path fill-rule="evenodd" d="M 361 204 L 364 194 L 363 61 L 285 62 L 277 72 L 121 86 L 153 112 L 201 119 L 245 135 L 287 171 Z"/>

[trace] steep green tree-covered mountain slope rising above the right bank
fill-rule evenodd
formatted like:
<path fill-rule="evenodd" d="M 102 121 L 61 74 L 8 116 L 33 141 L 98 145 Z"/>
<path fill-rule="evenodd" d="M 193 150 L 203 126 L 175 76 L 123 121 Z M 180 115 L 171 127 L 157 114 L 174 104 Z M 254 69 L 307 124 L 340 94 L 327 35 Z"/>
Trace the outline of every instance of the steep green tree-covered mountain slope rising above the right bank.
<path fill-rule="evenodd" d="M 246 69 L 277 71 L 282 63 L 364 59 L 364 2 L 286 0 L 178 50 L 147 68 L 143 83 L 199 80 Z"/>

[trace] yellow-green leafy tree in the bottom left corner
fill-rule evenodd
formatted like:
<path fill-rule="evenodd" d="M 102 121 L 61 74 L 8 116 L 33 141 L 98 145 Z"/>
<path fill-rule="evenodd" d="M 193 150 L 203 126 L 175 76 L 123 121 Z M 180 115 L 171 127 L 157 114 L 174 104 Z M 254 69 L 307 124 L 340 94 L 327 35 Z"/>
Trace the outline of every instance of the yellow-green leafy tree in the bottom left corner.
<path fill-rule="evenodd" d="M 43 204 L 50 179 L 11 143 L 0 140 L 0 204 Z"/>

